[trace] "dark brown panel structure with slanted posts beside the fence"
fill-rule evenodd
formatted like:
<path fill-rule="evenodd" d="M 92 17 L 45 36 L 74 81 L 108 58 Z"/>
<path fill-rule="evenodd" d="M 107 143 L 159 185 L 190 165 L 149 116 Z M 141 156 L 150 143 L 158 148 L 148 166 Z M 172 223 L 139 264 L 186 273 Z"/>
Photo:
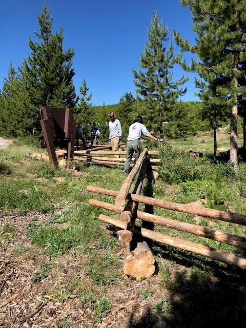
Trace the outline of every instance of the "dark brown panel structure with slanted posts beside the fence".
<path fill-rule="evenodd" d="M 51 165 L 58 166 L 55 147 L 66 148 L 67 161 L 73 160 L 76 122 L 72 108 L 42 107 L 40 116 L 44 139 L 39 146 L 47 148 Z"/>

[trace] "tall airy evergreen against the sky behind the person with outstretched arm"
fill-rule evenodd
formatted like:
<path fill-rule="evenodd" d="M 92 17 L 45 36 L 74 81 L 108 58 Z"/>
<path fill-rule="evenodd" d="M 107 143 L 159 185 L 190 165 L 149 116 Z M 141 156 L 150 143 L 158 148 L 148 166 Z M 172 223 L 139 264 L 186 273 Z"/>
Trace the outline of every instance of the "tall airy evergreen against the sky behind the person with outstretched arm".
<path fill-rule="evenodd" d="M 179 63 L 180 54 L 174 56 L 172 43 L 168 50 L 163 47 L 163 43 L 168 42 L 168 32 L 168 27 L 162 27 L 162 19 L 159 23 L 157 12 L 153 13 L 151 25 L 148 27 L 149 41 L 146 42 L 144 54 L 140 54 L 140 67 L 145 71 L 132 70 L 137 96 L 147 100 L 145 123 L 157 128 L 160 134 L 162 121 L 167 120 L 167 112 L 175 100 L 186 93 L 186 89 L 179 87 L 188 79 L 181 76 L 179 80 L 173 81 L 172 69 L 174 64 Z"/>

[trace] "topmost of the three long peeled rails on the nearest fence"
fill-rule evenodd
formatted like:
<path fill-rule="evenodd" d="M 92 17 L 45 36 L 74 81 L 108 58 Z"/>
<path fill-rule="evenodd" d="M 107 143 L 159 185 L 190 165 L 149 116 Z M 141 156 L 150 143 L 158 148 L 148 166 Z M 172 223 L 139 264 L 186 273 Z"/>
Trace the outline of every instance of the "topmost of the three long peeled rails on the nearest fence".
<path fill-rule="evenodd" d="M 118 191 L 115 190 L 94 187 L 94 186 L 87 186 L 86 190 L 97 194 L 103 194 L 113 197 L 117 197 L 119 193 Z M 236 214 L 232 212 L 208 209 L 202 206 L 194 206 L 192 204 L 175 203 L 171 201 L 155 199 L 152 197 L 140 196 L 134 194 L 128 194 L 127 199 L 132 199 L 134 201 L 138 201 L 139 203 L 144 203 L 147 205 L 152 205 L 167 210 L 189 213 L 189 214 L 199 215 L 202 217 L 210 217 L 213 219 L 242 224 L 243 226 L 246 226 L 246 215 L 243 214 Z"/>

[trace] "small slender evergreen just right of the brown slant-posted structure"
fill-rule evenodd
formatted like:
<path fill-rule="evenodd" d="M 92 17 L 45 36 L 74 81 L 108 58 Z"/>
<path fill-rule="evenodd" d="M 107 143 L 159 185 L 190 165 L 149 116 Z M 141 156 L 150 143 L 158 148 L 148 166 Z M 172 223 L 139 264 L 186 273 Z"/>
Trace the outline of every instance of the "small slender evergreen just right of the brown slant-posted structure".
<path fill-rule="evenodd" d="M 83 83 L 79 88 L 78 105 L 74 109 L 74 119 L 76 120 L 76 126 L 80 127 L 81 135 L 85 140 L 90 136 L 92 126 L 93 107 L 90 103 L 92 94 L 87 95 L 89 91 L 87 87 L 86 79 L 84 77 Z"/>

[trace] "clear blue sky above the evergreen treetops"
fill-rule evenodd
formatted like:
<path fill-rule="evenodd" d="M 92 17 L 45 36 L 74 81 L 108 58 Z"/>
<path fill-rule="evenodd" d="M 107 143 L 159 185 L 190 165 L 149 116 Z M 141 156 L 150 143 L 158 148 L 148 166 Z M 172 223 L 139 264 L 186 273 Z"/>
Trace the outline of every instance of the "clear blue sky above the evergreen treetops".
<path fill-rule="evenodd" d="M 93 105 L 112 105 L 126 92 L 136 96 L 132 68 L 139 70 L 140 53 L 148 41 L 147 30 L 153 11 L 163 26 L 169 27 L 169 48 L 173 29 L 194 43 L 191 15 L 178 0 L 47 0 L 53 15 L 52 31 L 63 27 L 64 50 L 75 51 L 73 83 L 76 94 L 85 77 Z M 16 69 L 30 53 L 28 38 L 37 41 L 37 14 L 44 0 L 1 0 L 0 3 L 0 89 L 7 77 L 10 61 Z M 185 54 L 188 62 L 191 55 Z M 175 66 L 174 79 L 187 75 Z M 182 100 L 199 100 L 194 96 L 194 74 L 189 74 L 188 92 Z"/>

